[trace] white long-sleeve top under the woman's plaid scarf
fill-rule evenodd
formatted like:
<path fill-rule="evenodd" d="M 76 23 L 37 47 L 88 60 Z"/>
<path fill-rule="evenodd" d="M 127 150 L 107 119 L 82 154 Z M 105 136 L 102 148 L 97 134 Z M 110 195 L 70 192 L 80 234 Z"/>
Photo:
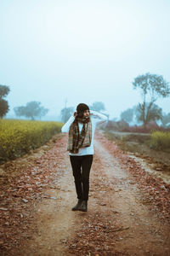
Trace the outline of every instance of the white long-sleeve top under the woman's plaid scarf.
<path fill-rule="evenodd" d="M 79 148 L 79 152 L 77 154 L 73 154 L 73 153 L 69 153 L 70 155 L 85 155 L 85 154 L 94 154 L 94 131 L 95 131 L 95 127 L 96 124 L 99 123 L 103 123 L 107 120 L 107 117 L 102 114 L 102 113 L 98 113 L 94 110 L 90 110 L 90 119 L 92 122 L 92 139 L 91 139 L 91 144 L 89 147 L 86 148 Z M 61 128 L 62 132 L 69 132 L 70 130 L 70 126 L 73 123 L 73 121 L 75 120 L 75 117 L 73 115 L 71 115 L 70 119 L 68 119 L 68 121 L 65 123 L 65 125 L 63 125 L 63 127 Z M 79 131 L 82 131 L 82 123 L 78 123 L 79 126 Z"/>

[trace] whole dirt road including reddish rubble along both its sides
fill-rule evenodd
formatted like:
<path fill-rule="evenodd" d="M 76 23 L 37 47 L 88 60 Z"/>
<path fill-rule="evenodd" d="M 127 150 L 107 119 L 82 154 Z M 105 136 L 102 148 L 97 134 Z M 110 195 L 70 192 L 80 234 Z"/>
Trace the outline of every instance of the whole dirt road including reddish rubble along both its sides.
<path fill-rule="evenodd" d="M 169 255 L 169 186 L 96 133 L 88 212 L 72 212 L 66 141 L 28 158 L 3 184 L 2 255 Z"/>

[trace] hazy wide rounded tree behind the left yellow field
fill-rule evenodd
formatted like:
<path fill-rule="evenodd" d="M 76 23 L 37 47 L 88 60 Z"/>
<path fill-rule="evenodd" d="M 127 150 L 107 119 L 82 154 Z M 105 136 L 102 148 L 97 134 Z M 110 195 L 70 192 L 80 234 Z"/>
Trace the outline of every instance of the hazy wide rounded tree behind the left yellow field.
<path fill-rule="evenodd" d="M 14 108 L 16 116 L 25 116 L 34 120 L 36 117 L 42 118 L 48 113 L 48 108 L 41 106 L 41 102 L 28 102 L 26 106 L 20 106 Z"/>

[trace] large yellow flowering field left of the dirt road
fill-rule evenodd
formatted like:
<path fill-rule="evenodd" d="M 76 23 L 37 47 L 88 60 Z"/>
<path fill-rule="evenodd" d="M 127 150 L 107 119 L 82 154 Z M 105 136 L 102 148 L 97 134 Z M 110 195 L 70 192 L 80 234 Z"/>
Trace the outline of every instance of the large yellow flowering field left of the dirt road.
<path fill-rule="evenodd" d="M 0 119 L 0 160 L 14 159 L 38 148 L 61 131 L 62 123 Z"/>

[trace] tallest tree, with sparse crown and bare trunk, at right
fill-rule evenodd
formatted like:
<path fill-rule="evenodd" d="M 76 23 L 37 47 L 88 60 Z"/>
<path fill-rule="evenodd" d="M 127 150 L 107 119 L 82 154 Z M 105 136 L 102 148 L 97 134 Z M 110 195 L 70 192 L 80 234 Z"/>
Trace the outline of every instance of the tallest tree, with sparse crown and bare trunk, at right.
<path fill-rule="evenodd" d="M 158 97 L 167 97 L 170 95 L 169 83 L 162 76 L 145 73 L 139 75 L 133 81 L 133 89 L 140 89 L 143 102 L 139 103 L 138 119 L 144 124 L 144 128 L 150 120 L 160 119 L 161 110 L 155 104 Z"/>

